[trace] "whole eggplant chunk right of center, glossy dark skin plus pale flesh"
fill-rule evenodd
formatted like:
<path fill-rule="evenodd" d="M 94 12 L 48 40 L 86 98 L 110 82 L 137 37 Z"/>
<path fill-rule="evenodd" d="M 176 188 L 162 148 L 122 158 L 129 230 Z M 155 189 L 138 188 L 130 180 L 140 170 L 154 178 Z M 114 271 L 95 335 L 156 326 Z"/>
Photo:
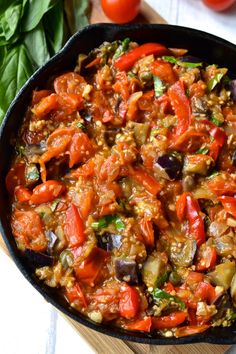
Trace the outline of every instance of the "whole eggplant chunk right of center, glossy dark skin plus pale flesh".
<path fill-rule="evenodd" d="M 182 174 L 182 167 L 182 162 L 176 156 L 169 154 L 159 156 L 154 164 L 155 172 L 160 177 L 169 180 L 179 179 Z"/>

